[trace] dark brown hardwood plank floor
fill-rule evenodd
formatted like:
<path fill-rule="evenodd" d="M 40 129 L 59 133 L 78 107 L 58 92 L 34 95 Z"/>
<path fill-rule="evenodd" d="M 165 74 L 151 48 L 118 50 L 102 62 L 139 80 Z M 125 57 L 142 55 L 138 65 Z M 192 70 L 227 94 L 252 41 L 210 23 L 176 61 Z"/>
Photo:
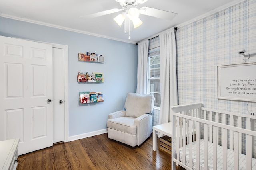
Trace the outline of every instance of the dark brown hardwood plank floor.
<path fill-rule="evenodd" d="M 171 155 L 152 150 L 152 135 L 140 147 L 130 147 L 108 139 L 107 133 L 20 155 L 17 167 L 17 170 L 170 169 Z"/>

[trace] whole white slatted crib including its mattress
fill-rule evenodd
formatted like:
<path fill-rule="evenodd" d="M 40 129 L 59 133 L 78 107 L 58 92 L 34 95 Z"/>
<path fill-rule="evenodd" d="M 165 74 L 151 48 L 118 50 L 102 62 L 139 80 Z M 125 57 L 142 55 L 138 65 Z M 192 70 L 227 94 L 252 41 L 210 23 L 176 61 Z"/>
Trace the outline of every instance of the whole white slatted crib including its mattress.
<path fill-rule="evenodd" d="M 256 170 L 256 116 L 201 106 L 171 107 L 172 170 Z"/>

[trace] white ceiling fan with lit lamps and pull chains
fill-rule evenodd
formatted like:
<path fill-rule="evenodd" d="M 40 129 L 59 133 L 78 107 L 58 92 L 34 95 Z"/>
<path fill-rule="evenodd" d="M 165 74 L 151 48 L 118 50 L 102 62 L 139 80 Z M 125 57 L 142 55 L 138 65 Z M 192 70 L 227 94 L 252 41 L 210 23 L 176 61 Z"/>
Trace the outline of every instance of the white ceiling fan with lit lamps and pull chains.
<path fill-rule="evenodd" d="M 161 18 L 165 20 L 172 20 L 177 15 L 174 12 L 158 10 L 156 8 L 150 8 L 150 7 L 142 7 L 140 9 L 136 8 L 139 4 L 144 4 L 148 0 L 115 0 L 115 1 L 119 2 L 119 4 L 122 6 L 121 9 L 114 8 L 111 10 L 105 10 L 101 12 L 96 12 L 94 14 L 81 16 L 80 18 L 90 19 L 90 18 L 96 18 L 99 16 L 104 16 L 107 14 L 116 13 L 119 11 L 124 11 L 121 14 L 118 14 L 118 16 L 114 18 L 114 21 L 116 21 L 116 23 L 121 27 L 124 21 L 125 21 L 125 24 L 126 24 L 126 21 L 129 21 L 129 24 L 130 24 L 130 20 L 131 20 L 134 28 L 137 28 L 142 24 L 142 21 L 139 18 L 140 14 Z M 130 32 L 130 26 L 129 26 L 129 32 Z M 125 33 L 126 33 L 126 25 L 125 25 Z M 130 39 L 130 36 L 129 36 L 129 39 Z"/>

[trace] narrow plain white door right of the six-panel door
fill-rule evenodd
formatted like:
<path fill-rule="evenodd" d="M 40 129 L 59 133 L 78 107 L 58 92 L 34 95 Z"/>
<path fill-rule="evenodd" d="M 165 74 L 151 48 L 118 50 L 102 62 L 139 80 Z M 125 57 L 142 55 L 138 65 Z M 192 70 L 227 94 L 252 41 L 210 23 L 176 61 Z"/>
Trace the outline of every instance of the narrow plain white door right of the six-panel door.
<path fill-rule="evenodd" d="M 52 48 L 53 55 L 53 143 L 64 141 L 64 49 Z"/>

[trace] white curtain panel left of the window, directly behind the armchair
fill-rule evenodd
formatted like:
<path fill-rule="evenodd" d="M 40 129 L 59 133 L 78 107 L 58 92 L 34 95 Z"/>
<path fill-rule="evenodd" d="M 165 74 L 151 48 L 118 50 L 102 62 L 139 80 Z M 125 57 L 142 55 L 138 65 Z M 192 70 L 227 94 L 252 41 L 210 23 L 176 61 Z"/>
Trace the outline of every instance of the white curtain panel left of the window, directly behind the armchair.
<path fill-rule="evenodd" d="M 136 93 L 147 94 L 148 40 L 138 43 Z"/>

